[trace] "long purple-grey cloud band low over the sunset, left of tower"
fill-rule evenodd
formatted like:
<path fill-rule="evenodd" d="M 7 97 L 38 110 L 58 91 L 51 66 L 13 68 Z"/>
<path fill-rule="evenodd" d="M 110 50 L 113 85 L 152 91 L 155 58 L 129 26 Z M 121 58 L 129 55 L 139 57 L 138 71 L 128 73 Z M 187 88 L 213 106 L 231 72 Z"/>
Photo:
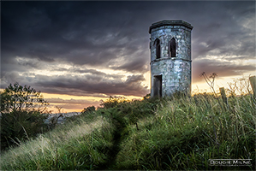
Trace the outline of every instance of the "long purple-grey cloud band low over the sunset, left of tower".
<path fill-rule="evenodd" d="M 142 75 L 128 76 L 125 81 L 110 80 L 98 75 L 85 76 L 43 76 L 37 75 L 34 85 L 43 87 L 50 93 L 62 93 L 75 96 L 88 96 L 90 93 L 103 94 L 107 96 L 145 96 L 148 91 L 146 87 L 140 85 L 145 80 Z M 53 90 L 53 91 L 51 91 Z"/>

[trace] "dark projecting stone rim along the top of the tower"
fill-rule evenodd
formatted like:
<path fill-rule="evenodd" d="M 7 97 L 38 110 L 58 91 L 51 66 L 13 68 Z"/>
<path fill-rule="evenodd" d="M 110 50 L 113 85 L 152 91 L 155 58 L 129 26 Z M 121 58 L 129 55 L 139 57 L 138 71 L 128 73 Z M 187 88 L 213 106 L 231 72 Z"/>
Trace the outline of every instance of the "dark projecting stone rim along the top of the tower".
<path fill-rule="evenodd" d="M 191 24 L 189 24 L 186 21 L 181 21 L 181 20 L 176 20 L 176 21 L 158 21 L 152 24 L 151 27 L 149 27 L 149 33 L 151 33 L 153 28 L 157 28 L 157 27 L 162 27 L 162 26 L 184 26 L 184 27 L 188 27 L 189 29 L 193 29 L 193 26 L 191 26 Z"/>

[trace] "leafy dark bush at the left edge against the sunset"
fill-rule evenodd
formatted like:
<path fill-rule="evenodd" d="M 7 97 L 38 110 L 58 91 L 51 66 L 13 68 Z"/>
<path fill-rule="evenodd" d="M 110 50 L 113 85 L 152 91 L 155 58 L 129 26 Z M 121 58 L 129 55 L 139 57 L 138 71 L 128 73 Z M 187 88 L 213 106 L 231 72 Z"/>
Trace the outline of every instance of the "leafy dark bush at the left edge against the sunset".
<path fill-rule="evenodd" d="M 1 92 L 1 150 L 46 130 L 48 115 L 40 91 L 27 85 L 9 85 Z"/>

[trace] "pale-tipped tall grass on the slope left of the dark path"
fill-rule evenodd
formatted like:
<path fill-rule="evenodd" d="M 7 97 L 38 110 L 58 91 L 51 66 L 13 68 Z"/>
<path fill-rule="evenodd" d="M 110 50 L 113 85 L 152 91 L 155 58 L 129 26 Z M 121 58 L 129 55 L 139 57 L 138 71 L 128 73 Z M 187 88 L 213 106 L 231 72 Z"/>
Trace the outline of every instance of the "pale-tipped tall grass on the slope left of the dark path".
<path fill-rule="evenodd" d="M 1 155 L 1 170 L 97 169 L 108 160 L 113 127 L 107 118 L 80 118 Z"/>

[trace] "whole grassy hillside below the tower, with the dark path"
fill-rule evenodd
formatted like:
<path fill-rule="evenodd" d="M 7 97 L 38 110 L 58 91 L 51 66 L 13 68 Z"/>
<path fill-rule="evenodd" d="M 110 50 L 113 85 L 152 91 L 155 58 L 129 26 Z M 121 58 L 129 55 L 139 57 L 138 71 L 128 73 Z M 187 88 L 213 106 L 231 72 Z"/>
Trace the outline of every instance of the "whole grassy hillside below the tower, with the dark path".
<path fill-rule="evenodd" d="M 255 101 L 210 94 L 126 101 L 75 116 L 1 154 L 1 170 L 254 170 Z M 209 159 L 252 159 L 210 166 Z"/>

